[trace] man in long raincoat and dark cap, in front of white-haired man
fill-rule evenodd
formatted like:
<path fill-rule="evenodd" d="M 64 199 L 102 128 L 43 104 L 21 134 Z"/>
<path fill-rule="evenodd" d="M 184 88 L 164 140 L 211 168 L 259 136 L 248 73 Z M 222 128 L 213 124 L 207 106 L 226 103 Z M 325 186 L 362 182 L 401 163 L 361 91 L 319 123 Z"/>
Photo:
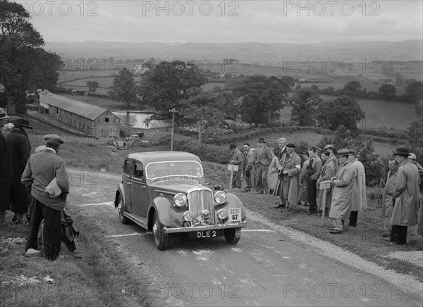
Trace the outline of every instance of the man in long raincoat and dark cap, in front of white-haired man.
<path fill-rule="evenodd" d="M 290 210 L 290 204 L 298 202 L 298 175 L 301 173 L 301 158 L 295 153 L 295 144 L 286 145 L 286 153 L 278 162 L 278 173 L 282 177 L 278 178 L 274 195 L 281 196 L 281 204 L 286 204 L 286 210 Z M 282 200 L 283 199 L 283 200 Z"/>

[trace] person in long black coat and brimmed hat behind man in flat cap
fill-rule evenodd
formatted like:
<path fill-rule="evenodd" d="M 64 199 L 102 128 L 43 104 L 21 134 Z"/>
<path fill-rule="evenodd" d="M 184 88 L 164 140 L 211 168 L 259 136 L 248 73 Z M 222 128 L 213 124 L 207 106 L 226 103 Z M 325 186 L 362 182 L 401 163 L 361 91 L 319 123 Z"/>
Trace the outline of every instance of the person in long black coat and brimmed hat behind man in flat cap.
<path fill-rule="evenodd" d="M 31 150 L 30 142 L 24 129 L 32 129 L 32 127 L 28 120 L 18 116 L 9 118 L 8 123 L 14 125 L 10 131 L 4 132 L 6 146 L 11 158 L 11 203 L 9 209 L 14 213 L 13 222 L 22 224 L 23 215 L 27 213 L 32 202 L 30 192 L 20 182 L 27 160 L 30 158 Z"/>

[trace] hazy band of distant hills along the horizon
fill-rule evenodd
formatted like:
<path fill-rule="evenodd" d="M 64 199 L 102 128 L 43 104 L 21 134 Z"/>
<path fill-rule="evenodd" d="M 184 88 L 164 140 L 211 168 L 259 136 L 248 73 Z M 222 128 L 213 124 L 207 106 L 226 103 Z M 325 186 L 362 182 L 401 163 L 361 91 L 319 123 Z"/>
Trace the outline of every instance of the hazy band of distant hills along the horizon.
<path fill-rule="evenodd" d="M 284 59 L 336 58 L 341 61 L 423 61 L 423 40 L 402 42 L 285 43 L 156 43 L 156 42 L 47 42 L 46 49 L 63 58 L 236 58 L 241 63 L 283 63 Z"/>

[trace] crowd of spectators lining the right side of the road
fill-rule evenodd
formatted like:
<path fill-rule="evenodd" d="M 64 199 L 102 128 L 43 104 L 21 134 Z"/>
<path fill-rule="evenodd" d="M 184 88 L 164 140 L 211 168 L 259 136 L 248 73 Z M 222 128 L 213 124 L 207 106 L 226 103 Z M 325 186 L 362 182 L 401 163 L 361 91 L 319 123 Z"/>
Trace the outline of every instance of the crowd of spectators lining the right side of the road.
<path fill-rule="evenodd" d="M 366 172 L 355 149 L 323 149 L 310 146 L 299 152 L 284 137 L 278 139 L 276 151 L 263 138 L 257 148 L 243 144 L 241 152 L 229 146 L 229 164 L 238 165 L 231 185 L 242 192 L 255 189 L 256 194 L 278 197 L 274 208 L 286 211 L 294 205 L 308 206 L 307 215 L 329 215 L 332 234 L 342 234 L 345 220 L 357 227 L 359 213 L 367 210 Z M 415 153 L 398 148 L 388 163 L 388 175 L 382 196 L 383 236 L 395 244 L 405 244 L 407 227 L 418 226 L 423 236 L 423 197 L 419 186 L 423 167 Z"/>

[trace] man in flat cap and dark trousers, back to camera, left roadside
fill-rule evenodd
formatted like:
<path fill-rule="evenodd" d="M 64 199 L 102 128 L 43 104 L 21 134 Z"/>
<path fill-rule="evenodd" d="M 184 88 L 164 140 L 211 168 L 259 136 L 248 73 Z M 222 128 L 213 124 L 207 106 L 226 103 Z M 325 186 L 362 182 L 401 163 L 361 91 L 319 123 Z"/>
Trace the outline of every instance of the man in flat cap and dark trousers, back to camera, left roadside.
<path fill-rule="evenodd" d="M 39 224 L 44 219 L 42 234 L 44 256 L 54 261 L 59 257 L 62 235 L 61 216 L 69 193 L 69 182 L 65 163 L 56 155 L 63 144 L 63 139 L 56 134 L 47 134 L 44 139 L 47 148 L 30 156 L 22 175 L 23 184 L 34 197 L 25 251 L 37 249 Z M 56 184 L 53 184 L 54 182 Z M 61 191 L 59 195 L 51 195 L 47 192 L 46 188 L 50 183 L 56 189 L 59 187 Z"/>

